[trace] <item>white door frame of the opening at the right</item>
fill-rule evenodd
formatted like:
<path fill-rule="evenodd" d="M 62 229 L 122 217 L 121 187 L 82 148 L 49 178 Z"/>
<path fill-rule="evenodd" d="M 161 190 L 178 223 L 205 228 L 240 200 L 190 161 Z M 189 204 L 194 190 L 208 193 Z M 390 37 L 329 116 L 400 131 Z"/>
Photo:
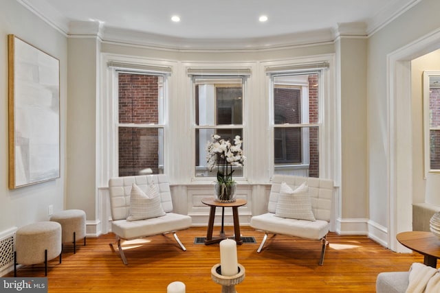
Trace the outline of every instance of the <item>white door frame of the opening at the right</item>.
<path fill-rule="evenodd" d="M 440 29 L 388 54 L 388 248 L 412 230 L 411 60 L 440 48 Z"/>

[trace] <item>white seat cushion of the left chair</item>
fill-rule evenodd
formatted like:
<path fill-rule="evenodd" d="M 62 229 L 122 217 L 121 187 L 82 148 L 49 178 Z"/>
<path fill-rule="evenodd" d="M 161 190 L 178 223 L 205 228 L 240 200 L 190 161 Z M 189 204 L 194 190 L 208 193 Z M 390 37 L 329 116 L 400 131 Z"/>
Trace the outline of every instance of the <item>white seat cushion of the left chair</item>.
<path fill-rule="evenodd" d="M 165 231 L 178 231 L 191 226 L 189 215 L 179 213 L 165 213 L 162 217 L 147 220 L 127 221 L 116 220 L 111 222 L 111 231 L 123 239 L 135 239 L 162 234 Z"/>

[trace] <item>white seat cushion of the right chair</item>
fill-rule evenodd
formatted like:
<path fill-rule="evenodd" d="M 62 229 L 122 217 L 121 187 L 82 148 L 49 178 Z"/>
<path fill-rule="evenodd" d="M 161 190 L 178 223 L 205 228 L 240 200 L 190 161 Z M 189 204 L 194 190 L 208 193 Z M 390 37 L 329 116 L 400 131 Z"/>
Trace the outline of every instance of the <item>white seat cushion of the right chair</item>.
<path fill-rule="evenodd" d="M 324 220 L 296 220 L 280 218 L 274 213 L 263 213 L 263 215 L 255 215 L 252 217 L 250 226 L 256 230 L 267 231 L 274 234 L 319 240 L 329 233 L 330 224 Z"/>

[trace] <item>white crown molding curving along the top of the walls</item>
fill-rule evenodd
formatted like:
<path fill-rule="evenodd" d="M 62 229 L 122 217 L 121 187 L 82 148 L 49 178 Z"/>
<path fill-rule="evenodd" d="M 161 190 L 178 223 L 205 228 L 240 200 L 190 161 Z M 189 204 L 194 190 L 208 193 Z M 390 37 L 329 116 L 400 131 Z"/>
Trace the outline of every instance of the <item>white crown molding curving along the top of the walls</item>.
<path fill-rule="evenodd" d="M 16 0 L 69 38 L 98 37 L 102 42 L 171 50 L 262 50 L 331 43 L 338 38 L 368 38 L 421 0 L 394 0 L 366 23 L 338 23 L 326 30 L 264 38 L 178 38 L 105 27 L 98 21 L 70 21 L 45 1 Z M 404 5 L 402 5 L 402 1 Z"/>

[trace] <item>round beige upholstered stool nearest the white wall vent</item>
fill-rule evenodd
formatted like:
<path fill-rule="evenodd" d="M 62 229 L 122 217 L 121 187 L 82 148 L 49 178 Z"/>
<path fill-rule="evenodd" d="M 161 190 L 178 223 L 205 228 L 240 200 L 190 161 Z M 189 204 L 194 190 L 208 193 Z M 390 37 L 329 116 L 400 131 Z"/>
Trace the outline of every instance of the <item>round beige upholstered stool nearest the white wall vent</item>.
<path fill-rule="evenodd" d="M 14 277 L 17 264 L 31 265 L 44 262 L 47 276 L 47 261 L 60 257 L 61 224 L 56 222 L 36 222 L 23 226 L 15 233 Z"/>

